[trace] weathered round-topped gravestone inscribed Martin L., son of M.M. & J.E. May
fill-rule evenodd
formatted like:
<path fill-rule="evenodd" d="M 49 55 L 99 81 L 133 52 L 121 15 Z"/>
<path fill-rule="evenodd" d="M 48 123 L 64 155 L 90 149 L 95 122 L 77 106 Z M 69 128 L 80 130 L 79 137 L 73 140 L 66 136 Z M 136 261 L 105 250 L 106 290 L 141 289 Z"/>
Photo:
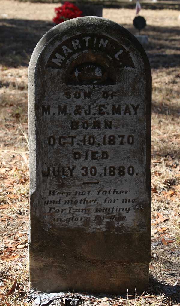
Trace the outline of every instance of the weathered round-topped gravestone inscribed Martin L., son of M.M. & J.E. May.
<path fill-rule="evenodd" d="M 65 21 L 29 66 L 30 288 L 148 286 L 151 70 L 125 28 Z"/>

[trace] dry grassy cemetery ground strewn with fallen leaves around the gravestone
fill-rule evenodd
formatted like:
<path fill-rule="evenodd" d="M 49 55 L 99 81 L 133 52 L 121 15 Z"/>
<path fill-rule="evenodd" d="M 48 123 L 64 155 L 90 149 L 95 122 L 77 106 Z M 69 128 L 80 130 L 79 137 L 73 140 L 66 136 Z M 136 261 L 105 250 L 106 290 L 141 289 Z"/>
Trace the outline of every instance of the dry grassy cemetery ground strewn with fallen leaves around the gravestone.
<path fill-rule="evenodd" d="M 27 300 L 28 63 L 36 43 L 54 25 L 51 20 L 56 6 L 1 0 L 0 304 L 7 306 L 32 304 Z M 180 11 L 142 9 L 140 13 L 147 21 L 142 34 L 149 35 L 145 50 L 152 67 L 149 288 L 141 297 L 68 293 L 61 303 L 55 299 L 51 305 L 67 306 L 73 298 L 77 305 L 99 306 L 180 302 Z M 122 24 L 133 34 L 134 14 L 131 9 L 103 10 L 103 17 Z"/>

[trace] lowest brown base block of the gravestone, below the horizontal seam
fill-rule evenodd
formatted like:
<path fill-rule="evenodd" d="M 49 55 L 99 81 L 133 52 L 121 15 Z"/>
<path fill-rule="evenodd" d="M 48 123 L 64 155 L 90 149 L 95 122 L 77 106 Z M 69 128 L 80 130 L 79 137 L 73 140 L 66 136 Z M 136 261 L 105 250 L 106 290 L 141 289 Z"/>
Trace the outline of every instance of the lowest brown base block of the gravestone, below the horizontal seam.
<path fill-rule="evenodd" d="M 42 265 L 42 262 L 36 264 Z M 31 277 L 31 288 L 34 290 L 50 292 L 103 292 L 114 294 L 129 294 L 134 292 L 142 294 L 147 290 L 149 285 L 149 264 L 123 264 L 119 262 L 92 262 L 82 263 L 73 271 L 75 262 L 72 262 L 72 271 L 66 273 L 63 278 L 62 269 L 60 271 L 58 265 L 45 268 L 44 272 L 38 274 L 39 278 Z M 38 266 L 36 266 L 38 272 Z M 65 271 L 65 269 L 63 269 Z M 53 274 L 53 278 L 51 276 Z M 46 288 L 46 290 L 45 290 Z"/>

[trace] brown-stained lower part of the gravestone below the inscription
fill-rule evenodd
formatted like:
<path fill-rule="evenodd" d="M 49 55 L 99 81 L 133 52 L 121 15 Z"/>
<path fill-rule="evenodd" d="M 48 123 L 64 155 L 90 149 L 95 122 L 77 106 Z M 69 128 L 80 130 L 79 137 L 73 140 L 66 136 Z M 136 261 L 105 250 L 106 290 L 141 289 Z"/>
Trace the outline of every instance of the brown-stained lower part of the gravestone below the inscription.
<path fill-rule="evenodd" d="M 111 239 L 106 244 L 108 235 Z M 141 252 L 142 245 L 149 248 L 149 242 L 141 231 L 127 232 L 126 237 L 121 233 L 116 236 L 83 233 L 79 229 L 48 229 L 36 219 L 32 223 L 31 240 L 34 241 L 29 250 L 31 289 L 46 293 L 74 290 L 124 294 L 128 289 L 134 294 L 136 288 L 141 294 L 148 288 L 150 257 L 147 254 L 141 262 Z"/>

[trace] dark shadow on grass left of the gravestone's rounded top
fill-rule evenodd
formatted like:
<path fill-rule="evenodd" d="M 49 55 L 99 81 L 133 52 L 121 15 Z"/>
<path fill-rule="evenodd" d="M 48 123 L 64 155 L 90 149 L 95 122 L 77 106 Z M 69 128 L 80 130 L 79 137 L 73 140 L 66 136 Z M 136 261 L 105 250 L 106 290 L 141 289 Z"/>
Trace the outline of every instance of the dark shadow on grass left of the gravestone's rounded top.
<path fill-rule="evenodd" d="M 36 44 L 53 26 L 49 21 L 1 19 L 1 64 L 7 67 L 28 66 Z"/>

